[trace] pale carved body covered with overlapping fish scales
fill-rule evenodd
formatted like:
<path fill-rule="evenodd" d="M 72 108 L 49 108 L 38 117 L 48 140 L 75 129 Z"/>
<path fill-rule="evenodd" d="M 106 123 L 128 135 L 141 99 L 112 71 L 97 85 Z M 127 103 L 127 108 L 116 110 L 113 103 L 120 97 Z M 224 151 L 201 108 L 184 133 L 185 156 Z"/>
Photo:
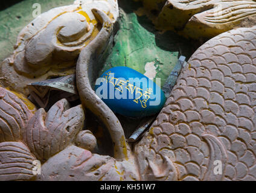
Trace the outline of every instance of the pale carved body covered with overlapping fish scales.
<path fill-rule="evenodd" d="M 256 180 L 255 30 L 220 34 L 192 55 L 135 147 L 142 179 Z"/>

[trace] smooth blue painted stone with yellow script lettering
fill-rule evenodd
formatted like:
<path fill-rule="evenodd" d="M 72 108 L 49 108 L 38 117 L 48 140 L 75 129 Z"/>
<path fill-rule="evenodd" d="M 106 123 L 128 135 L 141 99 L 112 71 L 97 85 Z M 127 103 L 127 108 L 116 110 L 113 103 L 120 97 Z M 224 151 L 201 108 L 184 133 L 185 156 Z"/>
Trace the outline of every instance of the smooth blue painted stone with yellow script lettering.
<path fill-rule="evenodd" d="M 96 81 L 95 92 L 113 112 L 135 118 L 155 115 L 165 103 L 164 92 L 156 83 L 125 66 L 104 72 Z"/>

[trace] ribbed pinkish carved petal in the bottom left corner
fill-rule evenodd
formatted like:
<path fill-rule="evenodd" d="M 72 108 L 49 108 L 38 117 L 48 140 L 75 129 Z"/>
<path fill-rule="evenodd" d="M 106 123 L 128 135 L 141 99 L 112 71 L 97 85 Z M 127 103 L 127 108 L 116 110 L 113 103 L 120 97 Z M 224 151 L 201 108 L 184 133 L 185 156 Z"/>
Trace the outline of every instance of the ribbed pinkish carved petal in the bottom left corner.
<path fill-rule="evenodd" d="M 30 180 L 35 159 L 21 142 L 0 143 L 0 181 Z"/>

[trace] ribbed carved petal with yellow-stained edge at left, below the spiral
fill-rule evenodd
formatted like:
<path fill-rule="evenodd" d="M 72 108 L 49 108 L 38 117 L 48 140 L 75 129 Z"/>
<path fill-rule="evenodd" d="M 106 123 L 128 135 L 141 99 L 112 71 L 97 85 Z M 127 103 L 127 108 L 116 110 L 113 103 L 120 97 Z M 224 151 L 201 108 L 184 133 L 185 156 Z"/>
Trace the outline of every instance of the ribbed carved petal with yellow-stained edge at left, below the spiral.
<path fill-rule="evenodd" d="M 21 141 L 33 110 L 28 100 L 0 87 L 0 142 Z"/>

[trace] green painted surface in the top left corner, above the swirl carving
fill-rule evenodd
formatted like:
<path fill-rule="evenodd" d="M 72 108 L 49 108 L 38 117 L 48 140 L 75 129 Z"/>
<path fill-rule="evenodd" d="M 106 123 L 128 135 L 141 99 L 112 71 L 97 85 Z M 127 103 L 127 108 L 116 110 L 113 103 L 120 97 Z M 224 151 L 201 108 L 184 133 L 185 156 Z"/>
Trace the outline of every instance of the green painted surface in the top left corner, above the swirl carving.
<path fill-rule="evenodd" d="M 2 0 L 3 1 L 3 0 Z M 0 11 L 0 62 L 13 52 L 19 32 L 33 21 L 33 4 L 41 5 L 41 13 L 54 7 L 73 4 L 74 0 L 25 0 Z"/>

